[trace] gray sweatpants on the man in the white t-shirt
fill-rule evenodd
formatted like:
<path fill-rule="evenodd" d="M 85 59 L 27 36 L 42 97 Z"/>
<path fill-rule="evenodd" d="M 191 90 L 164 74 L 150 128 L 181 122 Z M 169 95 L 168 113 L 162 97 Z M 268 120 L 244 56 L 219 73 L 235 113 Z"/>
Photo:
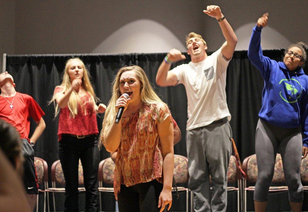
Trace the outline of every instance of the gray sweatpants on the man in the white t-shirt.
<path fill-rule="evenodd" d="M 231 137 L 232 131 L 228 121 L 186 132 L 190 176 L 188 187 L 194 193 L 196 212 L 226 210 Z"/>

